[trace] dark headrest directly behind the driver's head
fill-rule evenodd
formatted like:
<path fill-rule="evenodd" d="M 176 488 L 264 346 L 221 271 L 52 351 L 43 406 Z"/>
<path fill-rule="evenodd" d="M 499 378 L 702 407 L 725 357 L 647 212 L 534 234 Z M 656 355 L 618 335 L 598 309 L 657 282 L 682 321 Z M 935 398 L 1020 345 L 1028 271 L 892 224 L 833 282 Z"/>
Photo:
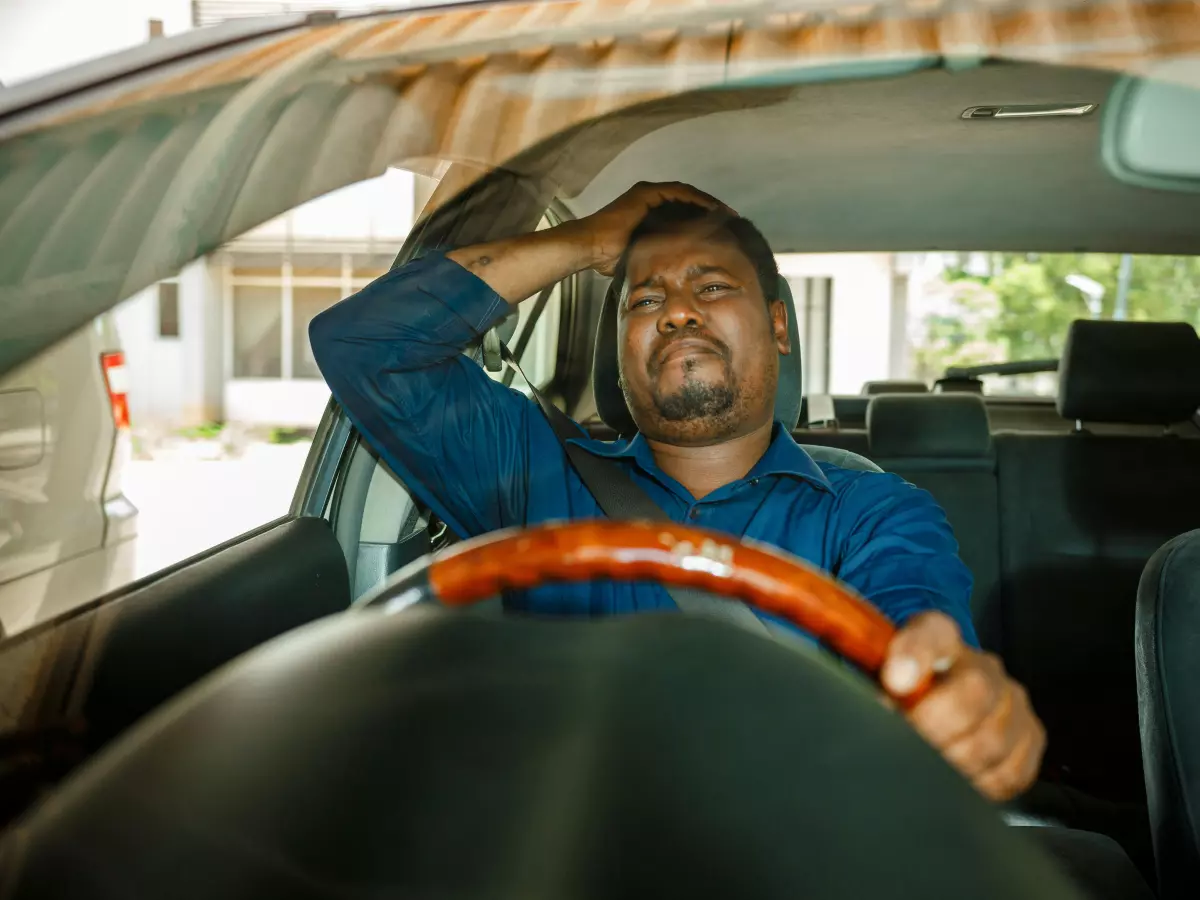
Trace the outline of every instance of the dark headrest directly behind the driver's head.
<path fill-rule="evenodd" d="M 804 367 L 800 359 L 800 330 L 796 322 L 796 304 L 785 278 L 779 280 L 779 299 L 787 307 L 787 336 L 792 352 L 779 358 L 779 386 L 775 389 L 775 419 L 791 431 L 800 420 L 800 401 L 804 394 Z M 596 329 L 595 355 L 592 359 L 592 392 L 596 400 L 596 413 L 618 434 L 634 434 L 637 426 L 625 406 L 625 395 L 617 384 L 617 296 L 610 286 L 600 307 L 600 325 Z"/>

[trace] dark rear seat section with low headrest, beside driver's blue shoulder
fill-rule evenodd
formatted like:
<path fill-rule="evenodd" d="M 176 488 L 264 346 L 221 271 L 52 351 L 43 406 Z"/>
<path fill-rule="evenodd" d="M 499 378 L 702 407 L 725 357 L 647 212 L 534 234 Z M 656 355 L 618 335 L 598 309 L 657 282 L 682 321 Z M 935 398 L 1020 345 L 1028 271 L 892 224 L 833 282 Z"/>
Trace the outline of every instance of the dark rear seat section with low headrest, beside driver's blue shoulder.
<path fill-rule="evenodd" d="M 974 576 L 971 614 L 1000 652 L 1000 500 L 988 409 L 973 394 L 883 394 L 866 409 L 870 457 L 929 491 Z"/>

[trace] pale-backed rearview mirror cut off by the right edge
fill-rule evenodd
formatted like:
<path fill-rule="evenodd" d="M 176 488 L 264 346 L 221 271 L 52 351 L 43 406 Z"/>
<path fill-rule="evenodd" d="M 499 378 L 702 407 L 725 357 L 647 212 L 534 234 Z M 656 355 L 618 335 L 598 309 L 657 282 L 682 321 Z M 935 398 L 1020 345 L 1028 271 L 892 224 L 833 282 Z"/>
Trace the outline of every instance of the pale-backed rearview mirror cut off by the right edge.
<path fill-rule="evenodd" d="M 1200 58 L 1117 82 L 1104 104 L 1102 150 L 1126 184 L 1200 192 Z"/>

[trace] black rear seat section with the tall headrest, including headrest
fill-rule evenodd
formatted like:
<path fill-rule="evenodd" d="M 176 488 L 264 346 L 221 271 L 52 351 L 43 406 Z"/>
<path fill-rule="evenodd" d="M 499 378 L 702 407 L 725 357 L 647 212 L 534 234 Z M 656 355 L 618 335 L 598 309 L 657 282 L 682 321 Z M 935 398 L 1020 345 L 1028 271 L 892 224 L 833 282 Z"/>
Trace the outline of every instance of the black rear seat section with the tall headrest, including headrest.
<path fill-rule="evenodd" d="M 1058 413 L 1075 433 L 995 436 L 1002 652 L 1050 734 L 1045 776 L 1117 802 L 1144 794 L 1133 623 L 1138 580 L 1200 526 L 1200 440 L 1093 434 L 1169 426 L 1200 407 L 1200 338 L 1186 324 L 1076 322 Z"/>

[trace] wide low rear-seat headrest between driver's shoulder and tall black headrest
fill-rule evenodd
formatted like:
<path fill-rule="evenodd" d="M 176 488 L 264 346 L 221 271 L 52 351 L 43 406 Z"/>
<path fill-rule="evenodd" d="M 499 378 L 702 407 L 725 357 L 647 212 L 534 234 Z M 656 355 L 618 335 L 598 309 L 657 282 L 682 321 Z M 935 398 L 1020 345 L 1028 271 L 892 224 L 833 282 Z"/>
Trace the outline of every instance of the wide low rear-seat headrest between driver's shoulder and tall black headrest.
<path fill-rule="evenodd" d="M 866 408 L 866 439 L 876 460 L 991 455 L 988 408 L 976 394 L 883 394 Z"/>

